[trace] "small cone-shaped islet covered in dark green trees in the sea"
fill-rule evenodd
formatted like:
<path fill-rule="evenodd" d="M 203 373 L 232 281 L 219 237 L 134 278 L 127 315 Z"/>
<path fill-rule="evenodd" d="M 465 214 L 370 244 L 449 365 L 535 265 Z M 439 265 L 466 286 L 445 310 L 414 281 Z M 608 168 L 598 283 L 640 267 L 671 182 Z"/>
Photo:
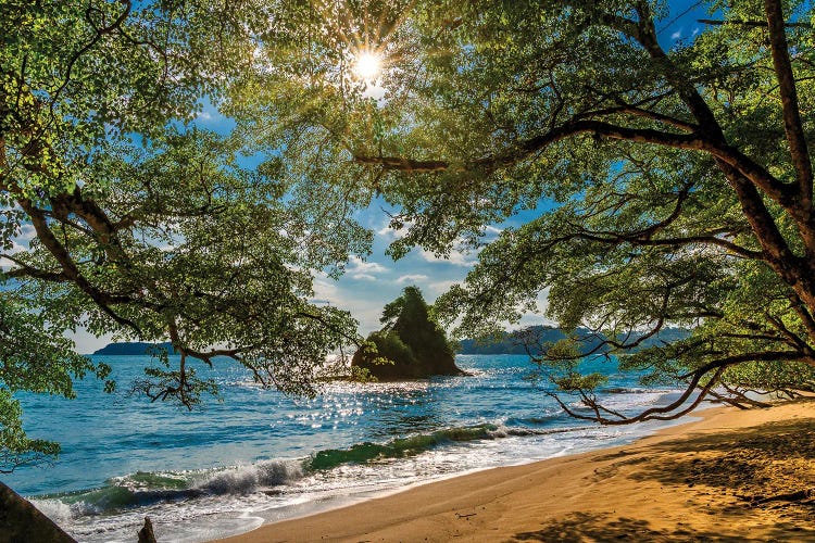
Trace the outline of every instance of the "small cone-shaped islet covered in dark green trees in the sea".
<path fill-rule="evenodd" d="M 362 345 L 354 353 L 354 366 L 379 379 L 462 375 L 453 348 L 417 287 L 405 287 L 401 296 L 385 306 L 380 321 L 385 327 L 367 339 L 376 349 Z"/>

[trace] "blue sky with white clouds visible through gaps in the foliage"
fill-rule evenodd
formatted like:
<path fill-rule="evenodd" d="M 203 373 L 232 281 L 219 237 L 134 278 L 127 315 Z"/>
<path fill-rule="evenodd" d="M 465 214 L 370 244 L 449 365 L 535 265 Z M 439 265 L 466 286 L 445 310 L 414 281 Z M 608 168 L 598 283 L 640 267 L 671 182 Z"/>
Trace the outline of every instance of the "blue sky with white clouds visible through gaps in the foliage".
<path fill-rule="evenodd" d="M 707 16 L 700 9 L 702 4 L 703 2 L 688 0 L 669 1 L 669 15 L 657 25 L 659 37 L 664 47 L 670 48 L 680 40 L 692 40 L 702 31 L 702 25 L 697 22 L 698 18 Z M 206 105 L 199 114 L 197 124 L 222 132 L 233 126 L 231 121 L 221 116 L 212 105 Z M 399 232 L 388 228 L 389 216 L 386 211 L 392 210 L 383 201 L 376 200 L 367 209 L 358 212 L 358 220 L 375 236 L 371 255 L 364 260 L 352 256 L 347 273 L 339 280 L 317 275 L 314 281 L 314 301 L 350 311 L 360 321 L 360 332 L 363 334 L 380 327 L 379 316 L 384 305 L 398 298 L 402 289 L 415 285 L 422 289 L 427 302 L 432 303 L 451 285 L 462 281 L 477 258 L 476 254 L 461 251 L 453 251 L 446 258 L 439 258 L 422 249 L 414 249 L 405 257 L 394 262 L 385 251 Z M 541 211 L 544 210 L 527 212 L 525 216 L 513 217 L 506 224 L 493 225 L 488 228 L 485 240 L 494 238 L 504 227 L 516 226 Z M 24 228 L 23 233 L 14 240 L 14 251 L 25 250 L 33 235 L 33 228 Z M 541 296 L 539 311 L 525 315 L 517 326 L 551 324 L 544 318 L 544 311 L 546 300 Z M 110 337 L 96 338 L 84 330 L 71 333 L 70 337 L 76 342 L 79 353 L 91 353 L 111 341 Z"/>

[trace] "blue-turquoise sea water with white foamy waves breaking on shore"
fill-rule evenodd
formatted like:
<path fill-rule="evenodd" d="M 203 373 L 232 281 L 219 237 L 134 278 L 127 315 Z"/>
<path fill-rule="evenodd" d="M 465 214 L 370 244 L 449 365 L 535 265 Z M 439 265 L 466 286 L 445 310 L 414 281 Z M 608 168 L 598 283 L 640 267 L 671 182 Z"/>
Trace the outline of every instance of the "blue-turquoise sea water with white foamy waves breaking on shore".
<path fill-rule="evenodd" d="M 469 377 L 330 383 L 315 399 L 263 390 L 240 366 L 210 374 L 222 402 L 181 411 L 127 394 L 146 356 L 96 357 L 118 391 L 25 396 L 29 435 L 59 441 L 47 468 L 2 480 L 79 541 L 135 541 L 150 516 L 160 541 L 206 541 L 441 477 L 610 446 L 653 426 L 601 428 L 564 416 L 530 383 L 526 356 L 462 356 Z M 667 401 L 611 375 L 606 401 L 630 411 Z M 203 370 L 202 370 L 203 371 Z"/>

